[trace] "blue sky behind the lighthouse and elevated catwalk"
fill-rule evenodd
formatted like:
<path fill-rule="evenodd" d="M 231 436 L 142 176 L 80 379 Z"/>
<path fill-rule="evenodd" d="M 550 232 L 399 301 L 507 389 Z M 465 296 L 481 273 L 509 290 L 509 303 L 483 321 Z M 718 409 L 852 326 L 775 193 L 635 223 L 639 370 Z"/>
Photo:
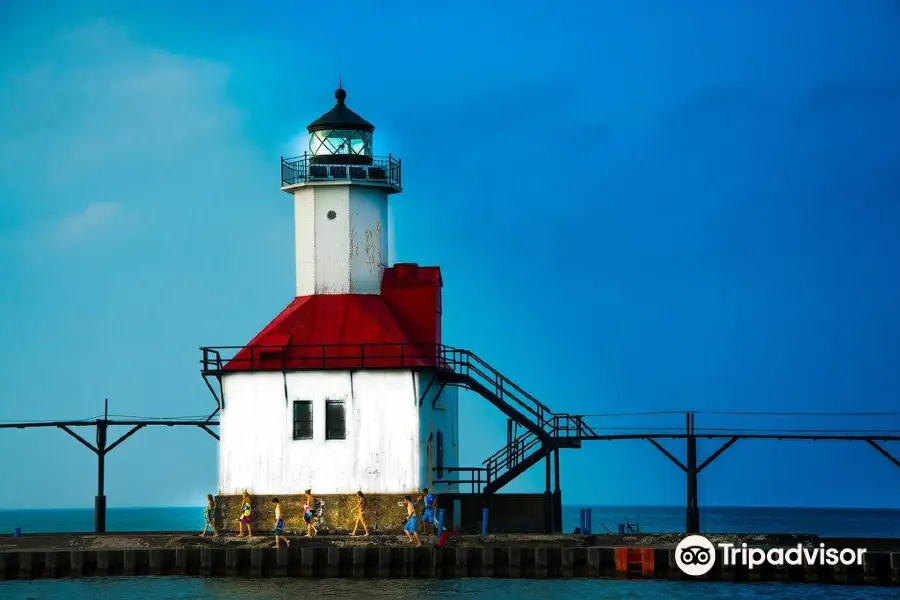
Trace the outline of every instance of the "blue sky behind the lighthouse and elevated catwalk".
<path fill-rule="evenodd" d="M 0 7 L 0 419 L 105 397 L 208 414 L 197 348 L 245 343 L 293 294 L 278 160 L 339 76 L 404 161 L 394 258 L 443 269 L 446 342 L 552 408 L 897 408 L 896 2 L 129 4 Z M 505 422 L 474 395 L 462 411 L 477 464 Z M 215 450 L 139 432 L 108 459 L 110 504 L 202 502 Z M 92 503 L 93 455 L 63 433 L 3 430 L 0 452 L 0 508 Z M 564 453 L 562 484 L 569 504 L 684 500 L 641 441 Z M 891 507 L 900 471 L 865 444 L 740 442 L 700 486 Z"/>

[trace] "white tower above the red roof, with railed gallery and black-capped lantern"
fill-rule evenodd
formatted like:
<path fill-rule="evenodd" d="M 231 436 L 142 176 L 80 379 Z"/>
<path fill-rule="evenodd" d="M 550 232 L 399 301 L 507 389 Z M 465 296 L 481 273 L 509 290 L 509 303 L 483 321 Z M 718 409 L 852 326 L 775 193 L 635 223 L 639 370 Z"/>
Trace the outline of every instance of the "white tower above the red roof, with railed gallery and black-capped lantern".
<path fill-rule="evenodd" d="M 378 294 L 389 265 L 388 196 L 401 191 L 400 160 L 372 154 L 375 127 L 350 110 L 347 92 L 307 126 L 309 149 L 282 159 L 281 189 L 294 197 L 296 295 Z"/>

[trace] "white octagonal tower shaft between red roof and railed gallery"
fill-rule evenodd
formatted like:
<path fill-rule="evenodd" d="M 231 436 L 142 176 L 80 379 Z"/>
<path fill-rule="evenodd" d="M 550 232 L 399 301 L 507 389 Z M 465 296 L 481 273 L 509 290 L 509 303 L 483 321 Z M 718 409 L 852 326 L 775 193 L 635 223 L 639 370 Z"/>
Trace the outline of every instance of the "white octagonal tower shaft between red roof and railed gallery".
<path fill-rule="evenodd" d="M 385 188 L 358 183 L 294 190 L 298 296 L 381 292 L 382 267 L 388 264 L 387 196 Z"/>

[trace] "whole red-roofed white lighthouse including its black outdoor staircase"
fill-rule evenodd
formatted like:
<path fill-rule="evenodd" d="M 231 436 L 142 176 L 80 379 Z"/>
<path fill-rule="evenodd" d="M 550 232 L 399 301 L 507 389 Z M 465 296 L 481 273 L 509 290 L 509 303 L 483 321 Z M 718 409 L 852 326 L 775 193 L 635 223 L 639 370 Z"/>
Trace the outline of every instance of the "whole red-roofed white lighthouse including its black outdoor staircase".
<path fill-rule="evenodd" d="M 376 526 L 390 529 L 406 516 L 397 501 L 427 487 L 455 527 L 561 531 L 560 450 L 596 432 L 442 343 L 440 269 L 388 255 L 401 161 L 376 156 L 375 126 L 342 87 L 334 97 L 307 126 L 303 155 L 281 159 L 294 298 L 246 345 L 200 349 L 218 404 L 221 505 L 238 510 L 245 490 L 282 499 L 312 490 L 329 506 L 317 518 L 334 524 L 361 491 Z M 476 466 L 459 464 L 460 389 L 507 417 L 506 440 Z M 542 461 L 542 493 L 498 493 Z"/>

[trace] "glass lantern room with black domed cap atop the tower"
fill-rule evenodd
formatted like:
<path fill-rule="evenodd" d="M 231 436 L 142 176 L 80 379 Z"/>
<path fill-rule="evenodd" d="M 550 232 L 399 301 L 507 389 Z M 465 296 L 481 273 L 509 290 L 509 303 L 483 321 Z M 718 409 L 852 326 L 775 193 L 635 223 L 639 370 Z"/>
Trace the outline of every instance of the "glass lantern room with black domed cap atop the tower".
<path fill-rule="evenodd" d="M 312 164 L 371 165 L 375 126 L 347 108 L 347 92 L 334 93 L 334 108 L 307 125 Z"/>

